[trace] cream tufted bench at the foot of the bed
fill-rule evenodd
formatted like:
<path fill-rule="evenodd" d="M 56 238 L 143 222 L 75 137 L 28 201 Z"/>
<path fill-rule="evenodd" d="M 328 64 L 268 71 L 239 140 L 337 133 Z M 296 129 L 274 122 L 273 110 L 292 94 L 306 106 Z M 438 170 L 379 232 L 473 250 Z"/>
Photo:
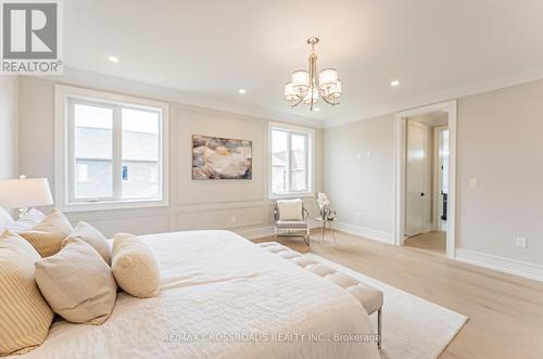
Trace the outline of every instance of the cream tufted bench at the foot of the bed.
<path fill-rule="evenodd" d="M 377 311 L 377 345 L 381 348 L 381 328 L 382 328 L 382 292 L 361 281 L 345 275 L 338 270 L 327 267 L 318 261 L 304 257 L 302 254 L 277 242 L 257 243 L 263 249 L 274 253 L 279 257 L 290 260 L 293 264 L 315 273 L 348 291 L 362 304 L 368 316 Z"/>

